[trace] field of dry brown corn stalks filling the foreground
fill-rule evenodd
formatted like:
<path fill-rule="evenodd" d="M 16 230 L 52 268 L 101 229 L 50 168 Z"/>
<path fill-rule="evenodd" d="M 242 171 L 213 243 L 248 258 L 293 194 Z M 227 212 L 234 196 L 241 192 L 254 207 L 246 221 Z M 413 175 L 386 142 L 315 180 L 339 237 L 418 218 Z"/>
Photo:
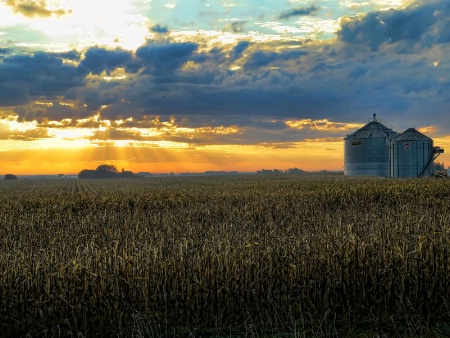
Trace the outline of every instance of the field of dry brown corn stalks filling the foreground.
<path fill-rule="evenodd" d="M 450 180 L 0 182 L 2 336 L 450 335 Z"/>

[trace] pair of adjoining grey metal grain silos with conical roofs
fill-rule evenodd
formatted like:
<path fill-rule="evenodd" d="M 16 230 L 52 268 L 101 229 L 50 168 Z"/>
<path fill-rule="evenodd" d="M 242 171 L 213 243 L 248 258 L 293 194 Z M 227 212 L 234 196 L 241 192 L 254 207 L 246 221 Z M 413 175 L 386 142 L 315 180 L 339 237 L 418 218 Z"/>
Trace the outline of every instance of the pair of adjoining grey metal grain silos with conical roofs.
<path fill-rule="evenodd" d="M 414 128 L 396 132 L 373 120 L 344 138 L 346 176 L 427 177 L 444 149 Z"/>

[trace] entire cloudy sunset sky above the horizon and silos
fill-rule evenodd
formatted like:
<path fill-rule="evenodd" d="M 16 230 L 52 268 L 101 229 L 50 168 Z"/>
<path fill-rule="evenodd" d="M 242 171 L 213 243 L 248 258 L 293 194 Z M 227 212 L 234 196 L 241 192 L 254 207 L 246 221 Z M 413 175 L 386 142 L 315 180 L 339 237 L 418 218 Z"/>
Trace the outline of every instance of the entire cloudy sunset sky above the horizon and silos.
<path fill-rule="evenodd" d="M 0 174 L 343 170 L 373 114 L 450 154 L 449 55 L 448 0 L 0 0 Z"/>

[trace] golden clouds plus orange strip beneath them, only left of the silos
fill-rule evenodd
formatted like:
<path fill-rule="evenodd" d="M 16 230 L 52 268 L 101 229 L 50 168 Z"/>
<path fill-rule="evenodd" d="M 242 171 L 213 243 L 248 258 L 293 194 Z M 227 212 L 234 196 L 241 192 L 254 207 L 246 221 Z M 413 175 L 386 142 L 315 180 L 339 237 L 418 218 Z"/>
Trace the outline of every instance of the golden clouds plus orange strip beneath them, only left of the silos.
<path fill-rule="evenodd" d="M 2 123 L 9 126 L 9 131 L 22 130 L 21 139 L 8 137 L 0 141 L 3 167 L 19 175 L 76 174 L 106 161 L 118 168 L 153 173 L 292 167 L 338 170 L 342 167 L 341 141 L 233 145 L 227 137 L 240 134 L 245 137 L 245 128 L 188 127 L 179 125 L 173 117 L 168 121 L 161 121 L 157 116 L 146 116 L 140 121 L 133 118 L 109 121 L 102 120 L 98 114 L 86 119 L 47 121 L 38 125 L 18 122 L 17 117 L 10 116 Z M 338 150 L 327 150 L 331 148 Z"/>

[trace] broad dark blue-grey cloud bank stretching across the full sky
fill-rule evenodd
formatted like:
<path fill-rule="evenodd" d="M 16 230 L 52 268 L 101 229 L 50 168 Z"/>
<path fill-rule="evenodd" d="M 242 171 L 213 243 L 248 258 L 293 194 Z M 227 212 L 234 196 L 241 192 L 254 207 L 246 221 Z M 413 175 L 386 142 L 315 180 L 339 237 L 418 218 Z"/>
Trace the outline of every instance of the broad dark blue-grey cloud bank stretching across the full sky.
<path fill-rule="evenodd" d="M 130 128 L 157 125 L 148 116 L 174 116 L 180 127 L 242 128 L 220 138 L 240 144 L 262 137 L 297 142 L 323 133 L 345 136 L 339 128 L 288 128 L 287 119 L 365 122 L 377 113 L 398 129 L 411 127 L 410 120 L 420 127 L 431 119 L 450 128 L 449 7 L 435 2 L 349 18 L 338 39 L 325 42 L 240 41 L 208 49 L 200 42 L 156 41 L 135 54 L 100 47 L 82 56 L 6 54 L 0 58 L 0 105 L 62 97 L 79 105 L 28 104 L 15 111 L 22 120 L 42 123 L 98 113 L 112 121 L 132 117 Z M 89 76 L 117 68 L 125 69 L 124 79 Z M 212 143 L 213 136 L 211 131 L 195 137 Z"/>

